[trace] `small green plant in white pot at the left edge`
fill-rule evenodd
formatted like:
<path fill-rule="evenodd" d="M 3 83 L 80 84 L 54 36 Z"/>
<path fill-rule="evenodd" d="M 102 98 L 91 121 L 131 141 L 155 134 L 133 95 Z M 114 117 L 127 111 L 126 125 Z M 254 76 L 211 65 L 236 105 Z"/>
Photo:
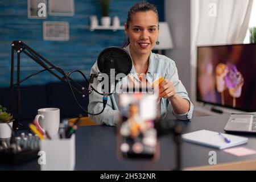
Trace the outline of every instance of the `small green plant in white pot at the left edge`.
<path fill-rule="evenodd" d="M 7 113 L 5 107 L 0 105 L 0 138 L 11 138 L 13 121 L 13 116 Z"/>

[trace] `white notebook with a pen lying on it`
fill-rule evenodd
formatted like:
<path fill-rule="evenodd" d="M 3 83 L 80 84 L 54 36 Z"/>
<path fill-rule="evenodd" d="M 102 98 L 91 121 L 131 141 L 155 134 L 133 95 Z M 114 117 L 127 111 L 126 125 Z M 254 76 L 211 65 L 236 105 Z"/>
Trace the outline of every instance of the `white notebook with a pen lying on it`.
<path fill-rule="evenodd" d="M 225 139 L 229 139 L 230 142 L 225 142 Z M 218 149 L 229 148 L 238 146 L 248 142 L 248 138 L 238 137 L 236 135 L 223 134 L 219 135 L 218 132 L 209 130 L 199 130 L 192 133 L 182 135 L 183 140 L 187 142 L 197 143 L 208 147 L 214 147 Z"/>

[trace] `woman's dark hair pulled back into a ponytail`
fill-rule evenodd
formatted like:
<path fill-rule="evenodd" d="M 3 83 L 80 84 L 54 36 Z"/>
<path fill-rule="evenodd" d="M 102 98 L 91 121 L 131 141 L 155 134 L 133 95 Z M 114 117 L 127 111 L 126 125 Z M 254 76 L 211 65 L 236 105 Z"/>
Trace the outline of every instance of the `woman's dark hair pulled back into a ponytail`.
<path fill-rule="evenodd" d="M 128 11 L 127 15 L 127 20 L 126 20 L 126 27 L 129 28 L 129 24 L 132 19 L 132 15 L 137 13 L 137 12 L 146 12 L 146 11 L 154 11 L 156 14 L 156 19 L 158 20 L 158 10 L 155 5 L 148 3 L 148 2 L 138 2 L 135 5 L 133 5 L 130 10 Z M 159 21 L 159 20 L 158 20 Z M 158 24 L 158 29 L 159 29 L 159 24 Z M 126 47 L 130 44 L 130 39 L 128 38 L 123 44 L 123 47 Z"/>

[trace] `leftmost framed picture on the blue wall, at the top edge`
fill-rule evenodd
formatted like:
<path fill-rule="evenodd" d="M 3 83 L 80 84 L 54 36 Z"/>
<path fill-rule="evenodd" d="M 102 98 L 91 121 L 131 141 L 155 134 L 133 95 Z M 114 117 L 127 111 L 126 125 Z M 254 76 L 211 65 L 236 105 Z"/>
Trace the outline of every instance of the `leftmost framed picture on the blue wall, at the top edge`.
<path fill-rule="evenodd" d="M 30 19 L 46 19 L 47 0 L 27 0 L 27 17 Z"/>

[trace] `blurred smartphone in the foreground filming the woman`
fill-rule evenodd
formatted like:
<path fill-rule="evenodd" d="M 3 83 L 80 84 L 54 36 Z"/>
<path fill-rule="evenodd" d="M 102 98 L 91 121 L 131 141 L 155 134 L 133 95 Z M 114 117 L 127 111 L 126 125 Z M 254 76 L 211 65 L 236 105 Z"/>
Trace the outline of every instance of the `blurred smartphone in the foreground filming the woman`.
<path fill-rule="evenodd" d="M 158 118 L 154 93 L 119 94 L 117 147 L 122 159 L 156 159 L 159 151 L 154 122 Z"/>

